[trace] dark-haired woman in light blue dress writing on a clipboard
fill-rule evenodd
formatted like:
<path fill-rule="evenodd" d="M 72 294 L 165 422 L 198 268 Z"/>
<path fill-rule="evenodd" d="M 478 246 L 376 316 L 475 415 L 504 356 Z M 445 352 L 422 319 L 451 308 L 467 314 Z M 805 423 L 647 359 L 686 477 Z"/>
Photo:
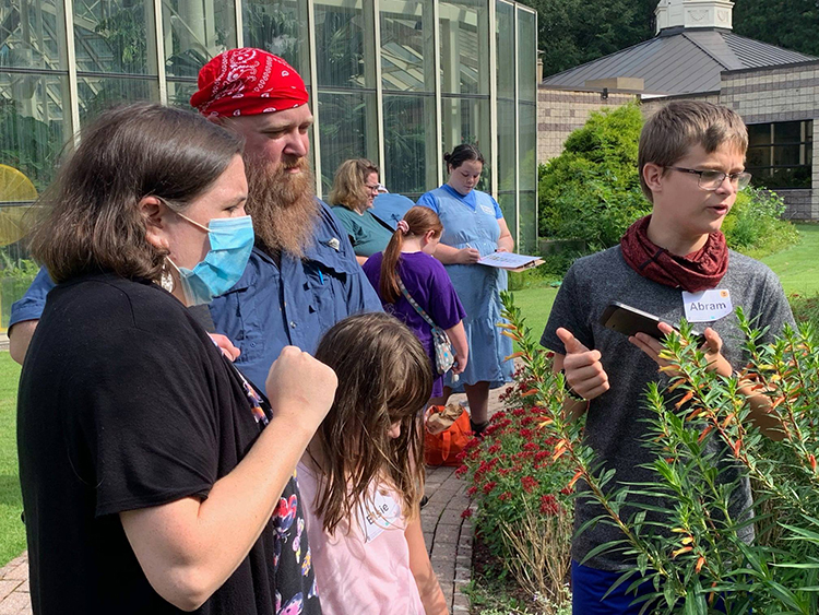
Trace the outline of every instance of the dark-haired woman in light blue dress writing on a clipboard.
<path fill-rule="evenodd" d="M 484 156 L 475 145 L 462 144 L 444 154 L 449 181 L 418 199 L 419 205 L 434 210 L 443 224 L 441 243 L 435 258 L 441 261 L 458 291 L 466 318 L 463 320 L 470 346 L 470 363 L 458 383 L 452 372 L 444 380 L 446 403 L 452 392 L 465 391 L 470 402 L 472 428 L 480 434 L 488 424 L 489 389 L 512 379 L 512 342 L 500 334 L 500 292 L 507 288 L 503 270 L 476 264 L 492 252 L 514 248 L 498 202 L 475 190 L 484 170 Z"/>

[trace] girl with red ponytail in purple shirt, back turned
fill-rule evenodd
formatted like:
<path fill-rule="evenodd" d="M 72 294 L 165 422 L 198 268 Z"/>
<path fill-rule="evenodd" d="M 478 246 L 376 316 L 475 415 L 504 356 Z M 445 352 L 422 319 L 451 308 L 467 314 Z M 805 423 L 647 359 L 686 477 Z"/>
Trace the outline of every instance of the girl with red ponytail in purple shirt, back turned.
<path fill-rule="evenodd" d="M 420 340 L 435 375 L 432 398 L 443 394 L 443 375 L 436 368 L 432 330 L 404 296 L 399 281 L 432 322 L 447 332 L 456 353 L 452 372 L 461 374 L 468 358 L 462 322 L 466 312 L 443 265 L 432 258 L 442 233 L 438 214 L 429 208 L 415 205 L 399 222 L 387 249 L 372 255 L 364 264 L 364 272 L 378 292 L 384 310 L 402 320 Z"/>

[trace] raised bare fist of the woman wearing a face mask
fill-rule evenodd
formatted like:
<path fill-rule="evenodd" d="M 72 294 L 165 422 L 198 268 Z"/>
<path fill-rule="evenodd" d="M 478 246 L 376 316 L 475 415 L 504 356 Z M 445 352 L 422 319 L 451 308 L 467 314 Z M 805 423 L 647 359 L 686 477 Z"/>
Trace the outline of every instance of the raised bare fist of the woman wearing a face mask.
<path fill-rule="evenodd" d="M 294 427 L 318 429 L 335 398 L 339 380 L 323 363 L 296 346 L 285 346 L 270 366 L 264 389 L 273 415 Z"/>

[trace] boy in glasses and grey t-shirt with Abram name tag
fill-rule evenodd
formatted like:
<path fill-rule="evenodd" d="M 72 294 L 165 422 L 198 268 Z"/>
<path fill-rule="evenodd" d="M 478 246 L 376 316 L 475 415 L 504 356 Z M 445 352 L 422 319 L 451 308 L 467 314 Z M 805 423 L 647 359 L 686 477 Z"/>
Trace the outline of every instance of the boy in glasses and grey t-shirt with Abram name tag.
<path fill-rule="evenodd" d="M 578 398 L 567 411 L 586 412 L 586 442 L 605 469 L 616 471 L 616 488 L 655 480 L 644 464 L 652 460 L 643 448 L 646 385 L 668 382 L 657 371 L 663 365 L 662 344 L 643 333 L 626 338 L 600 324 L 603 310 L 620 301 L 676 323 L 685 317 L 705 329 L 707 356 L 723 376 L 746 363 L 743 334 L 734 309 L 741 306 L 756 327 L 768 328 L 761 342 L 771 341 L 793 315 L 775 274 L 764 264 L 727 249 L 720 232 L 737 190 L 748 185 L 745 152 L 748 134 L 733 110 L 699 102 L 674 102 L 658 110 L 640 137 L 639 165 L 643 192 L 652 214 L 636 222 L 621 244 L 578 260 L 563 280 L 541 343 L 555 351 L 556 371 Z M 710 301 L 720 297 L 719 301 Z M 692 304 L 723 304 L 719 314 L 691 309 Z M 663 324 L 663 332 L 672 329 Z M 724 342 L 723 342 L 724 341 Z M 752 397 L 749 390 L 745 392 Z M 771 437 L 776 424 L 768 416 L 768 398 L 752 397 L 752 419 Z M 714 441 L 711 445 L 716 447 Z M 736 480 L 737 470 L 725 462 L 722 480 Z M 732 516 L 751 505 L 747 478 L 734 493 Z M 583 488 L 582 486 L 580 487 Z M 624 507 L 628 519 L 633 509 Z M 587 498 L 575 505 L 577 528 L 604 515 Z M 650 518 L 652 515 L 649 516 Z M 654 513 L 660 523 L 662 517 Z M 657 525 L 661 527 L 661 525 Z M 743 530 L 749 542 L 752 527 Z M 620 552 L 604 552 L 584 560 L 598 545 L 622 539 L 610 524 L 596 523 L 572 543 L 572 587 L 575 614 L 639 613 L 631 605 L 636 593 L 626 594 L 631 582 L 620 584 L 606 599 L 624 570 L 634 563 Z M 583 565 L 580 563 L 583 561 Z M 632 579 L 633 580 L 633 579 Z M 640 588 L 638 592 L 651 591 Z"/>

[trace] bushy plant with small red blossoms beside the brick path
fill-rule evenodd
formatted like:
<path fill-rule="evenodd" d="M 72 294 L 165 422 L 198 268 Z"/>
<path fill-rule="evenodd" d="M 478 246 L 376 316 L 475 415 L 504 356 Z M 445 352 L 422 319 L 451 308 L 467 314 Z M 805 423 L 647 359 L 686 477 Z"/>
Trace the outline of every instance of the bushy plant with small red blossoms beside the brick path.
<path fill-rule="evenodd" d="M 529 369 L 518 368 L 514 378 L 500 395 L 505 410 L 491 417 L 483 439 L 466 445 L 455 472 L 470 483 L 483 543 L 541 603 L 541 612 L 550 613 L 569 602 L 575 469 L 530 393 Z"/>

